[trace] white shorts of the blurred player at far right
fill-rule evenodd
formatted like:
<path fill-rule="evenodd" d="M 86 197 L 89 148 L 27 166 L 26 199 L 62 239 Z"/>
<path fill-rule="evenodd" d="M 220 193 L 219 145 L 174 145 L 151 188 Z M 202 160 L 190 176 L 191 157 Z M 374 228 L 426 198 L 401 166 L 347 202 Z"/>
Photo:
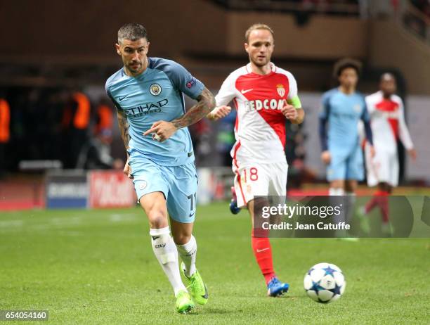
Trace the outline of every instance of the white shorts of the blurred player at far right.
<path fill-rule="evenodd" d="M 396 151 L 384 151 L 377 148 L 374 158 L 370 158 L 370 148 L 366 143 L 367 185 L 376 186 L 387 183 L 393 187 L 398 185 L 398 156 Z"/>

